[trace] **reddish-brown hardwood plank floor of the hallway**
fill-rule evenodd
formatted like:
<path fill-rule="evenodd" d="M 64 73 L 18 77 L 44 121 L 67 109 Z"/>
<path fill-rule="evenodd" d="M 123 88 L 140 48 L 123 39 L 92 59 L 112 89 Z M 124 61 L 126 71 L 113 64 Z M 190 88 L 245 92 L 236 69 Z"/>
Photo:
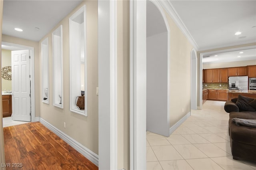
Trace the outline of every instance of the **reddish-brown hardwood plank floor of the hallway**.
<path fill-rule="evenodd" d="M 4 152 L 6 170 L 98 170 L 39 122 L 5 127 Z"/>

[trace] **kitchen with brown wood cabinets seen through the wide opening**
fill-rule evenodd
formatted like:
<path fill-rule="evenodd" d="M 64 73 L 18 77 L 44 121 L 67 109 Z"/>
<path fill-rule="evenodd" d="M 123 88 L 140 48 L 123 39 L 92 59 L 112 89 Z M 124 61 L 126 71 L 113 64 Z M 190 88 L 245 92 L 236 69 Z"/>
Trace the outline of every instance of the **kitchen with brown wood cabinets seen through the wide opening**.
<path fill-rule="evenodd" d="M 256 49 L 203 56 L 202 73 L 202 103 L 256 98 Z"/>

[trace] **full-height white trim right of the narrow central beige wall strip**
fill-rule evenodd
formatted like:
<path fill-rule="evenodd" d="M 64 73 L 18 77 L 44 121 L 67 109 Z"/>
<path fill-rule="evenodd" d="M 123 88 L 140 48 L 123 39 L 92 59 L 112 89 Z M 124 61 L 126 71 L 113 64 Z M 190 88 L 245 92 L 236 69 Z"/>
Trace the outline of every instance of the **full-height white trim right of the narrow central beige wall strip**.
<path fill-rule="evenodd" d="M 146 1 L 130 1 L 130 170 L 146 169 Z"/>

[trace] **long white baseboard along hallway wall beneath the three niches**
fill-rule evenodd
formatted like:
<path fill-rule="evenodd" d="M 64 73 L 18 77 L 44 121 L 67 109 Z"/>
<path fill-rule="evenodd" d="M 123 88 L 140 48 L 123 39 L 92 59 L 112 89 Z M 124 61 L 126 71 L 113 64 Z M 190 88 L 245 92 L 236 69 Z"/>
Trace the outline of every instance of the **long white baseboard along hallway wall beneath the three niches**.
<path fill-rule="evenodd" d="M 67 142 L 70 146 L 72 146 L 74 149 L 76 149 L 78 152 L 80 152 L 82 155 L 84 155 L 88 160 L 90 160 L 92 163 L 94 163 L 96 166 L 99 166 L 99 156 L 68 136 L 67 134 L 63 133 L 58 128 L 54 127 L 52 124 L 48 123 L 42 118 L 39 118 L 39 122 L 42 123 L 45 127 L 52 130 L 57 136 L 62 138 L 65 142 Z"/>

